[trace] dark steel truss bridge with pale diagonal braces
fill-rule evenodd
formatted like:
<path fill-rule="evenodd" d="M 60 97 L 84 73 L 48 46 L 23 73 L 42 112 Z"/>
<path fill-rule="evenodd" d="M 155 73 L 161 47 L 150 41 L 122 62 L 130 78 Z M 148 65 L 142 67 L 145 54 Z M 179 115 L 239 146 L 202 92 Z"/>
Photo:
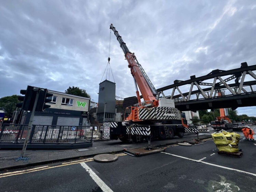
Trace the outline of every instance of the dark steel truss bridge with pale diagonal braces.
<path fill-rule="evenodd" d="M 207 75 L 190 76 L 188 80 L 175 80 L 174 84 L 157 89 L 158 95 L 174 99 L 181 111 L 232 108 L 256 105 L 256 65 L 228 71 L 213 70 Z M 165 96 L 163 93 L 171 95 Z"/>

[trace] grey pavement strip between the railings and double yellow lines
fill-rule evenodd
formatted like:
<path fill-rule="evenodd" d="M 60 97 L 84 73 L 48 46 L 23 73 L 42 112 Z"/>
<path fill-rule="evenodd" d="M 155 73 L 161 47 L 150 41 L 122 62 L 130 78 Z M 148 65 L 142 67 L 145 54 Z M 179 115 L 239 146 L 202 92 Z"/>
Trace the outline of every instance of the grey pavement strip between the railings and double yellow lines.
<path fill-rule="evenodd" d="M 210 132 L 199 133 L 199 139 L 211 138 Z M 166 139 L 162 141 L 152 141 L 152 147 L 161 147 L 171 144 L 180 143 L 183 141 L 197 139 L 197 135 L 194 133 L 185 134 L 183 138 L 174 137 L 173 139 Z M 20 167 L 42 165 L 53 162 L 67 161 L 84 157 L 94 157 L 103 153 L 118 153 L 126 149 L 147 147 L 148 143 L 125 144 L 119 140 L 100 140 L 98 138 L 93 139 L 93 147 L 82 149 L 69 149 L 69 150 L 26 150 L 25 157 L 28 157 L 27 161 L 15 160 L 21 156 L 22 150 L 0 150 L 0 171 L 5 169 L 14 169 Z"/>

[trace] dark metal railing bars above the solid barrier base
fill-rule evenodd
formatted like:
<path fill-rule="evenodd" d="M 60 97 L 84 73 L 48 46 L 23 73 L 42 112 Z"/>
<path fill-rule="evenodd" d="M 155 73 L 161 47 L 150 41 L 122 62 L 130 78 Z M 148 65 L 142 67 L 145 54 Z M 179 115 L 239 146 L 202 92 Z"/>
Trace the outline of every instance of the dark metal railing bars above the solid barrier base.
<path fill-rule="evenodd" d="M 97 125 L 32 125 L 29 143 L 75 144 L 83 142 L 92 142 L 93 131 L 95 126 Z M 3 124 L 0 131 L 0 143 L 23 143 L 27 135 L 27 130 L 27 124 Z"/>

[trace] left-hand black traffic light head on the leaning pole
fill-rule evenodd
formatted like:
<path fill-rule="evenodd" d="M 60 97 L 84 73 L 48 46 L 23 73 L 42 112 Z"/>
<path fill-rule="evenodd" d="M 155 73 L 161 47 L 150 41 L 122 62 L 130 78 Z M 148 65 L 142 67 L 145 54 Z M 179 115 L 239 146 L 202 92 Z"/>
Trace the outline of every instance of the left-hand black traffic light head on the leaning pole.
<path fill-rule="evenodd" d="M 29 86 L 27 89 L 20 90 L 20 94 L 23 94 L 25 96 L 19 96 L 18 100 L 23 101 L 23 103 L 17 103 L 16 107 L 20 107 L 23 110 L 33 110 L 34 102 L 35 102 L 35 96 L 37 95 L 37 91 L 34 90 L 34 87 Z"/>

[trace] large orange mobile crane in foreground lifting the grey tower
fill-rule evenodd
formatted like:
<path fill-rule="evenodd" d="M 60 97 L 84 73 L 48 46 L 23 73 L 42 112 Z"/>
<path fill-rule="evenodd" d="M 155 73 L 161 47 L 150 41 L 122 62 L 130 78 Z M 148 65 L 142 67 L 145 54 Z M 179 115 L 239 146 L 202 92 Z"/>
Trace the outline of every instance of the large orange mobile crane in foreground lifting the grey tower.
<path fill-rule="evenodd" d="M 134 53 L 131 53 L 115 29 L 113 24 L 110 29 L 114 32 L 117 41 L 128 61 L 128 68 L 134 80 L 138 103 L 126 108 L 123 122 L 103 122 L 103 137 L 106 139 L 120 139 L 121 141 L 143 141 L 145 137 L 149 141 L 173 138 L 175 135 L 183 137 L 185 129 L 181 122 L 181 113 L 174 106 L 174 101 L 159 97 L 152 82 L 146 75 Z M 143 101 L 141 101 L 138 87 Z"/>

